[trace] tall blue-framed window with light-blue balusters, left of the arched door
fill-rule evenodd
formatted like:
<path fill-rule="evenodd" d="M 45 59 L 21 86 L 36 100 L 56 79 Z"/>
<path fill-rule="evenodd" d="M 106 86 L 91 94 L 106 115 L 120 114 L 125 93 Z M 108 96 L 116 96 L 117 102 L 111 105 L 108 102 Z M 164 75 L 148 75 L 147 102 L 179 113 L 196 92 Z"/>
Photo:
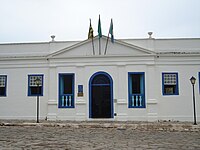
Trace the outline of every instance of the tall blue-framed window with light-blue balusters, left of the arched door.
<path fill-rule="evenodd" d="M 59 108 L 74 108 L 74 74 L 59 74 Z"/>

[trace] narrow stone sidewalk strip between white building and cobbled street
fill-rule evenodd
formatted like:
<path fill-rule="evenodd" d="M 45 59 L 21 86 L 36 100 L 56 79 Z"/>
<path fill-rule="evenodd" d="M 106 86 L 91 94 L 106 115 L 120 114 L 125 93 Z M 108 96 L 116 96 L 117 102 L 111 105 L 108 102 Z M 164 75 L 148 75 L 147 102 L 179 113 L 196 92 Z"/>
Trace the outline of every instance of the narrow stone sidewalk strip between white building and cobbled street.
<path fill-rule="evenodd" d="M 152 131 L 196 131 L 200 132 L 200 123 L 192 122 L 136 122 L 136 121 L 44 121 L 35 120 L 0 120 L 1 126 L 39 126 L 66 128 L 117 128 L 119 130 L 152 130 Z"/>

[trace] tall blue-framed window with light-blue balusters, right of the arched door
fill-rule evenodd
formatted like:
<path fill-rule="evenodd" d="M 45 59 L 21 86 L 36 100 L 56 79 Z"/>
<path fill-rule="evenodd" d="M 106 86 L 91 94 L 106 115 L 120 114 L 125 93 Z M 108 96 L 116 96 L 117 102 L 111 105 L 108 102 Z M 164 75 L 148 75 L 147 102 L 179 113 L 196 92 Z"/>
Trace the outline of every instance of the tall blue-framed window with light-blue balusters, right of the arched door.
<path fill-rule="evenodd" d="M 128 73 L 129 108 L 145 108 L 145 73 Z"/>

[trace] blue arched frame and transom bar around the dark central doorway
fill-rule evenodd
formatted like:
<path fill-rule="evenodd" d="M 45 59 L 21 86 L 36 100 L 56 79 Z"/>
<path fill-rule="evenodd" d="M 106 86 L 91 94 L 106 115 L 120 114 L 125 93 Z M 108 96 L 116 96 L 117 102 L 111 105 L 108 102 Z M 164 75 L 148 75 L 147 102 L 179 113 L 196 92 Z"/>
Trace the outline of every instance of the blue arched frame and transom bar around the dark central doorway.
<path fill-rule="evenodd" d="M 97 75 L 105 75 L 109 78 L 110 84 L 92 84 L 94 77 Z M 110 86 L 110 94 L 111 94 L 111 118 L 114 118 L 114 110 L 113 110 L 113 80 L 112 77 L 103 71 L 99 71 L 94 73 L 89 80 L 89 118 L 92 118 L 92 86 Z"/>

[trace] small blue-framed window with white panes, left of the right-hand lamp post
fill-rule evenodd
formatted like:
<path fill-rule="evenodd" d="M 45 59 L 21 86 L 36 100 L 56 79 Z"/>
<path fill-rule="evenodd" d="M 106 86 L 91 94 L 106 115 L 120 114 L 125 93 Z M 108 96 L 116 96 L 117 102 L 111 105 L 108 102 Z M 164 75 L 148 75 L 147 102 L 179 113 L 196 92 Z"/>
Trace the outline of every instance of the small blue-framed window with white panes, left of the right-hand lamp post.
<path fill-rule="evenodd" d="M 162 73 L 163 95 L 178 95 L 178 73 Z"/>

